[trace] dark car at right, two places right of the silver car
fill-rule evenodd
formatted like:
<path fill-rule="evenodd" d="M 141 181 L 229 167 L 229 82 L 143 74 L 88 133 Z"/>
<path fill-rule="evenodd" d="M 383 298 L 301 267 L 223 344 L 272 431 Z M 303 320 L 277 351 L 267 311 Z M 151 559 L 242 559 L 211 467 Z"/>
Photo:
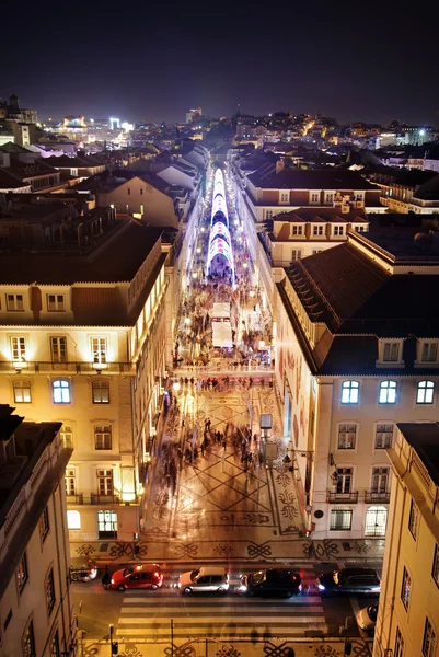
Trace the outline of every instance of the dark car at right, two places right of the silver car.
<path fill-rule="evenodd" d="M 381 581 L 373 568 L 342 568 L 322 574 L 317 586 L 321 596 L 379 596 L 381 591 Z"/>

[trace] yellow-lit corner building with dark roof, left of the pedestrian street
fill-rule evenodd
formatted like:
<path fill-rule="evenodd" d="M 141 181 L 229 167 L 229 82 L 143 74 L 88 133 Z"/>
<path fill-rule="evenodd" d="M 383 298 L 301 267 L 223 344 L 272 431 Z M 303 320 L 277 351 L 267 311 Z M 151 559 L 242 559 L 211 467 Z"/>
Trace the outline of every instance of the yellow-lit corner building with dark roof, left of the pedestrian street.
<path fill-rule="evenodd" d="M 1 253 L 0 397 L 62 423 L 70 538 L 83 541 L 138 530 L 171 362 L 161 231 L 107 210 L 65 220 L 61 243 L 46 226 L 43 244 L 15 233 Z"/>

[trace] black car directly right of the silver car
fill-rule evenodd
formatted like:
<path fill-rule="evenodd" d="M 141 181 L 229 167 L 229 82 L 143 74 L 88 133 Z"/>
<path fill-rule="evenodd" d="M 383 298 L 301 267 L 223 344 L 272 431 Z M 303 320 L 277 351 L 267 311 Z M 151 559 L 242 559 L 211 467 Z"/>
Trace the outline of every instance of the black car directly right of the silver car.
<path fill-rule="evenodd" d="M 241 576 L 240 590 L 246 596 L 285 596 L 291 598 L 302 590 L 299 573 L 287 568 L 258 570 Z"/>

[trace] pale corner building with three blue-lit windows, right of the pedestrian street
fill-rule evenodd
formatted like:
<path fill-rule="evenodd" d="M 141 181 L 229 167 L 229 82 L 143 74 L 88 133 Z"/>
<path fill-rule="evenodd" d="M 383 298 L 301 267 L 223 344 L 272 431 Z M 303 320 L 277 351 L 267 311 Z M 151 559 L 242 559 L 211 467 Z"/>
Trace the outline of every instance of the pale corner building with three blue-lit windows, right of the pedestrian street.
<path fill-rule="evenodd" d="M 385 237 L 276 269 L 284 439 L 316 539 L 383 537 L 395 424 L 437 418 L 439 256 Z"/>

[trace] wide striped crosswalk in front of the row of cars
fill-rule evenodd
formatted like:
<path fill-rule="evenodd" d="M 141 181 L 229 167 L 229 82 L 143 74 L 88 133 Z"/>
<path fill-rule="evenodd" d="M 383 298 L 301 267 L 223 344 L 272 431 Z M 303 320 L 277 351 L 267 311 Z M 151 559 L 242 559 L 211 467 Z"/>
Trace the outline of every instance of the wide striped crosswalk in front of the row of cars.
<path fill-rule="evenodd" d="M 297 637 L 305 631 L 327 632 L 321 598 L 246 598 L 236 592 L 223 596 L 193 593 L 176 589 L 129 590 L 124 593 L 117 624 L 119 639 L 170 641 L 216 637 L 238 639 L 266 636 Z"/>

